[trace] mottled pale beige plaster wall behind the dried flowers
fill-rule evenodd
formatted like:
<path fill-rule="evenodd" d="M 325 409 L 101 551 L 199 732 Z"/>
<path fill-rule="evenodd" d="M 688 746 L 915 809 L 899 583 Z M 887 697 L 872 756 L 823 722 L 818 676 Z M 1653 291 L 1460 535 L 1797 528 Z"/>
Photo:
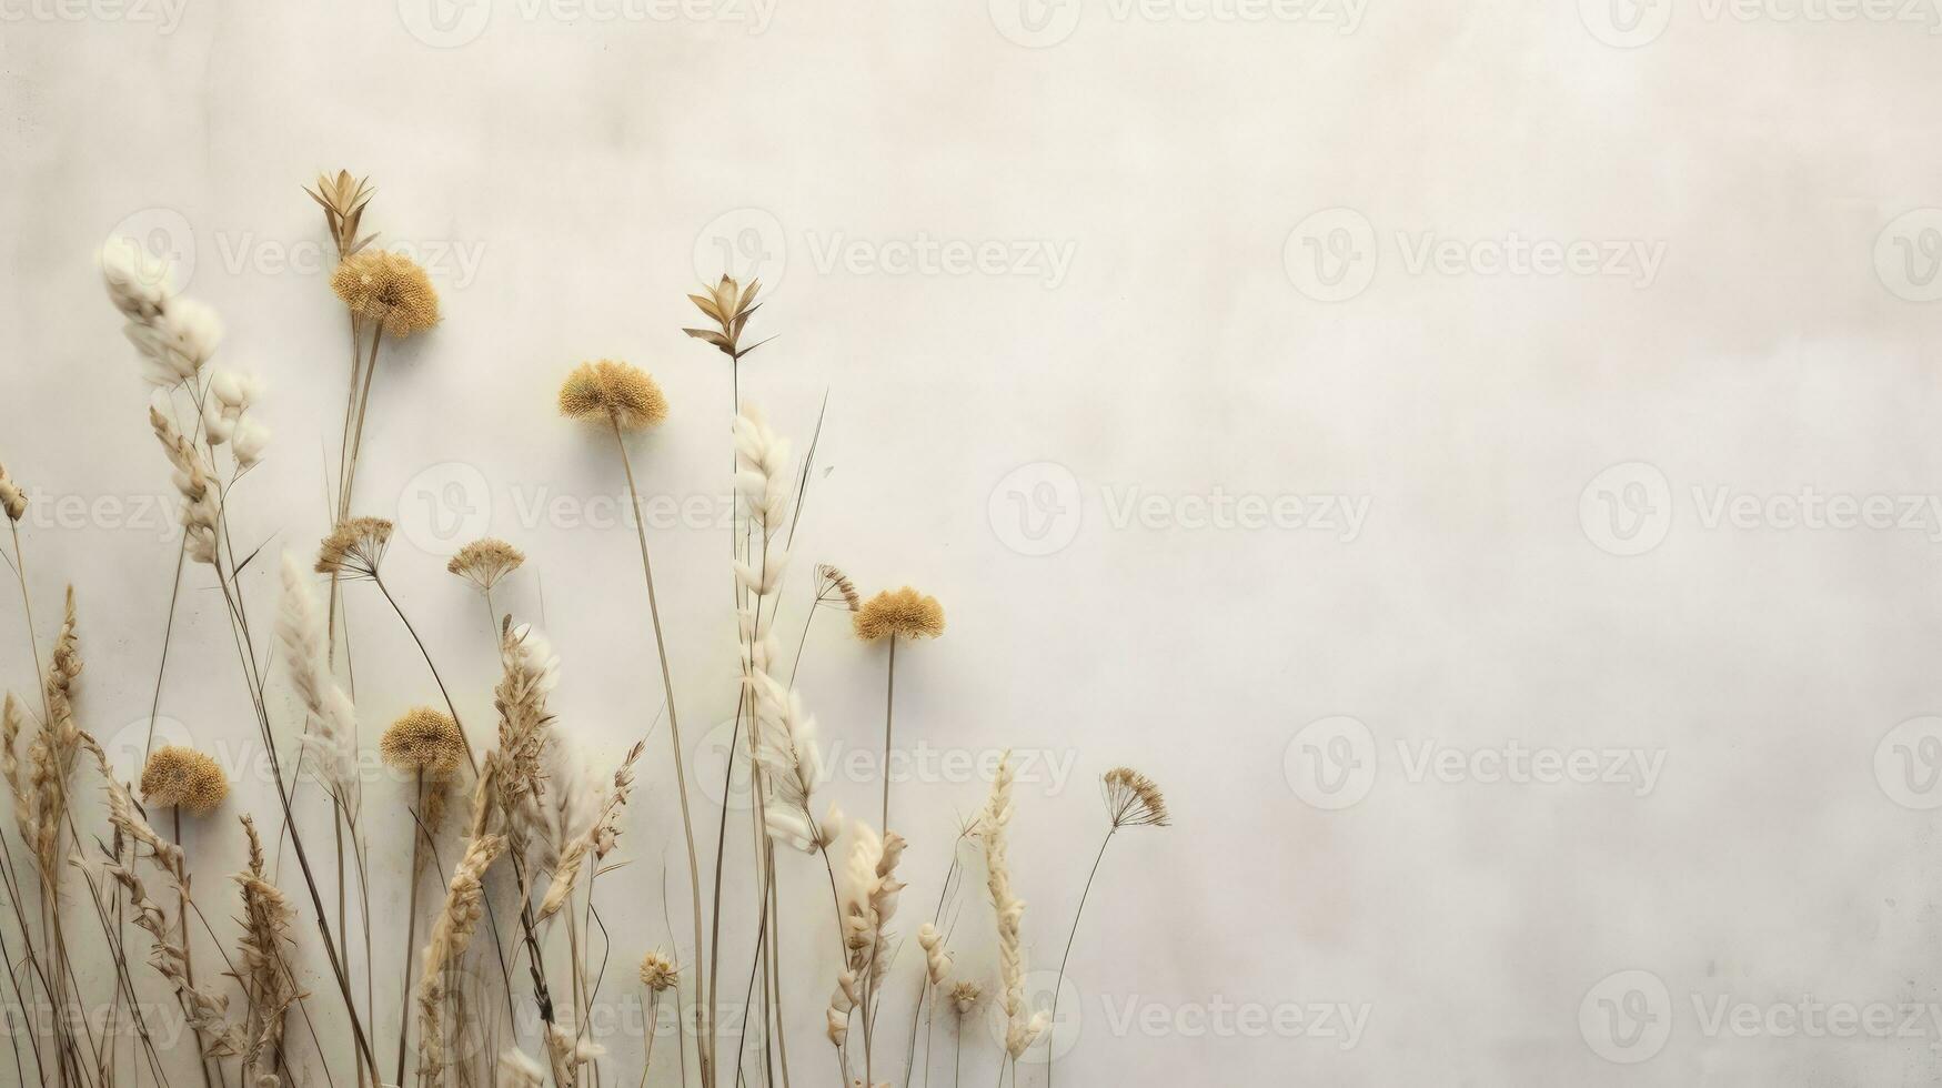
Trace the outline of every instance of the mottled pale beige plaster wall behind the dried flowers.
<path fill-rule="evenodd" d="M 581 357 L 651 367 L 647 484 L 726 493 L 728 375 L 680 324 L 728 255 L 773 284 L 744 394 L 802 439 L 829 396 L 800 563 L 950 610 L 901 657 L 911 927 L 983 797 L 963 764 L 1035 754 L 1039 968 L 1093 775 L 1165 785 L 1179 826 L 1115 841 L 1088 907 L 1060 1082 L 1932 1078 L 1942 721 L 1897 723 L 1942 713 L 1942 16 L 1018 2 L 0 0 L 0 460 L 43 495 L 43 637 L 82 593 L 87 725 L 146 719 L 175 552 L 132 509 L 167 482 L 89 255 L 192 258 L 272 391 L 239 528 L 307 552 L 346 352 L 299 185 L 344 165 L 445 291 L 385 365 L 359 505 L 412 538 L 392 577 L 476 731 L 491 643 L 441 565 L 482 528 L 532 556 L 505 604 L 544 618 L 585 750 L 649 729 L 621 482 L 552 396 Z M 697 748 L 734 699 L 724 536 L 654 527 Z M 218 746 L 247 705 L 188 585 L 163 715 Z M 353 620 L 367 721 L 433 696 L 375 598 Z M 866 754 L 880 653 L 827 614 L 808 645 Z M 1486 781 L 1532 750 L 1552 781 Z M 860 812 L 874 781 L 831 791 Z M 668 940 L 666 787 L 656 731 L 608 993 Z M 214 894 L 233 824 L 190 835 Z M 957 933 L 988 969 L 975 882 Z M 829 968 L 798 960 L 812 1080 Z M 631 1082 L 639 1037 L 608 1041 Z"/>

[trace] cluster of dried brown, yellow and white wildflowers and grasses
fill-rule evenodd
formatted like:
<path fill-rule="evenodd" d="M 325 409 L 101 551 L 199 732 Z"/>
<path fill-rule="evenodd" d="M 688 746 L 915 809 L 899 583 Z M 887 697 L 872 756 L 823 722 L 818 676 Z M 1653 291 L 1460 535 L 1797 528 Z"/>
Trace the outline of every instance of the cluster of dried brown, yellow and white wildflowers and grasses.
<path fill-rule="evenodd" d="M 602 1001 L 612 1001 L 602 993 L 631 991 L 631 979 L 614 975 L 631 969 L 647 1010 L 643 1086 L 878 1088 L 928 1084 L 932 1072 L 957 1084 L 967 1053 L 979 1051 L 971 1024 L 983 1008 L 998 1022 L 988 1057 L 1000 1086 L 1006 1076 L 1016 1082 L 1020 1059 L 1056 1024 L 1056 985 L 1047 1006 L 1027 993 L 1025 901 L 1008 859 L 1018 771 L 1004 754 L 983 810 L 948 843 L 907 835 L 915 824 L 891 828 L 897 651 L 942 635 L 944 608 L 911 587 L 866 598 L 827 563 L 810 571 L 806 595 L 790 593 L 821 418 L 798 462 L 792 443 L 742 398 L 742 359 L 765 342 L 746 342 L 761 284 L 722 276 L 689 295 L 709 324 L 686 330 L 728 359 L 736 517 L 720 577 L 732 589 L 722 622 L 736 633 L 740 676 L 724 775 L 750 783 L 746 826 L 720 804 L 709 828 L 682 734 L 693 684 L 676 688 L 668 653 L 684 631 L 662 622 L 641 517 L 633 519 L 639 631 L 651 639 L 660 692 L 641 699 L 653 713 L 641 715 L 639 740 L 625 752 L 586 752 L 559 725 L 550 709 L 559 659 L 540 629 L 493 600 L 528 565 L 524 552 L 497 538 L 466 544 L 447 565 L 484 600 L 497 645 L 495 721 L 462 719 L 433 647 L 408 616 L 412 587 L 386 581 L 394 527 L 365 513 L 355 493 L 361 459 L 381 445 L 367 449 L 365 439 L 367 431 L 381 439 L 367 420 L 383 346 L 439 324 L 437 288 L 412 258 L 365 233 L 375 190 L 363 179 L 326 175 L 307 192 L 338 251 L 330 288 L 352 342 L 334 476 L 324 482 L 330 519 L 315 554 L 284 550 L 272 561 L 251 536 L 245 484 L 270 451 L 270 431 L 254 377 L 214 361 L 221 321 L 177 291 L 171 268 L 144 249 L 111 243 L 101 255 L 109 301 L 151 387 L 148 425 L 181 499 L 150 719 L 161 707 L 179 614 L 219 608 L 268 771 L 268 808 L 237 810 L 221 762 L 188 744 L 155 744 L 153 734 L 138 781 L 117 777 L 78 709 L 82 606 L 66 589 L 43 657 L 33 604 L 49 587 L 29 577 L 21 534 L 29 495 L 0 468 L 8 558 L 39 688 L 29 697 L 8 694 L 0 713 L 0 775 L 14 802 L 12 828 L 0 828 L 0 958 L 14 1008 L 52 1010 L 27 1024 L 8 1016 L 17 1080 L 602 1088 L 619 1078 L 612 1032 L 598 1026 Z M 565 375 L 557 406 L 586 424 L 590 441 L 612 443 L 641 509 L 631 443 L 678 420 L 660 385 L 625 361 L 588 361 Z M 425 696 L 388 723 L 373 723 L 357 703 L 350 608 L 394 622 L 416 649 L 412 668 L 423 664 Z M 821 734 L 796 676 L 825 608 L 847 614 L 864 643 L 884 643 L 874 824 L 818 797 L 827 785 Z M 790 651 L 783 616 L 796 637 Z M 726 705 L 728 692 L 705 697 Z M 660 719 L 666 764 L 651 744 Z M 367 795 L 367 756 L 404 789 Z M 678 828 L 643 828 L 629 816 L 643 773 L 674 787 Z M 1060 981 L 1107 845 L 1122 828 L 1169 822 L 1159 787 L 1138 771 L 1115 767 L 1101 787 L 1105 832 L 1078 892 Z M 897 812 L 909 808 L 907 799 Z M 402 843 L 400 832 L 410 839 L 402 874 L 381 865 L 381 847 Z M 660 927 L 637 909 L 625 925 L 602 913 L 600 878 L 625 863 L 623 833 L 629 843 L 666 839 L 678 859 L 662 872 L 662 890 L 682 909 L 664 907 Z M 196 855 L 216 841 L 233 843 L 231 857 L 241 851 L 247 861 L 198 882 Z M 901 863 L 911 849 L 940 847 L 950 851 L 944 882 L 934 903 L 926 896 L 928 917 L 911 917 Z M 1082 863 L 1074 859 L 1074 874 Z M 979 870 L 990 905 L 985 940 L 957 927 Z M 404 917 L 375 919 L 373 890 L 402 901 Z M 915 950 L 903 958 L 911 936 Z M 967 946 L 977 952 L 965 956 Z M 992 977 L 963 968 L 987 948 Z M 934 1053 L 940 1018 L 948 1053 Z M 167 1022 L 186 1026 L 186 1036 L 167 1032 Z M 810 1022 L 820 1030 L 806 1030 Z"/>

